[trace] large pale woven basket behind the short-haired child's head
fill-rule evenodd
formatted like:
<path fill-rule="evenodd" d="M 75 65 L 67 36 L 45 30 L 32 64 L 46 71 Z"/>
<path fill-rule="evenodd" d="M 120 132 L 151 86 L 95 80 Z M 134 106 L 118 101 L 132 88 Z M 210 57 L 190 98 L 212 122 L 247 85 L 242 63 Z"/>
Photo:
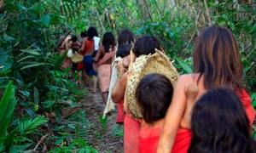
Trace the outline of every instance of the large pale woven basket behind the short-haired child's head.
<path fill-rule="evenodd" d="M 177 70 L 166 54 L 163 54 L 158 50 L 155 54 L 141 55 L 135 60 L 131 65 L 125 89 L 125 111 L 128 112 L 128 106 L 131 116 L 137 119 L 143 117 L 138 109 L 135 98 L 137 84 L 149 73 L 160 73 L 165 75 L 170 79 L 173 86 L 177 82 L 177 77 L 179 76 Z"/>

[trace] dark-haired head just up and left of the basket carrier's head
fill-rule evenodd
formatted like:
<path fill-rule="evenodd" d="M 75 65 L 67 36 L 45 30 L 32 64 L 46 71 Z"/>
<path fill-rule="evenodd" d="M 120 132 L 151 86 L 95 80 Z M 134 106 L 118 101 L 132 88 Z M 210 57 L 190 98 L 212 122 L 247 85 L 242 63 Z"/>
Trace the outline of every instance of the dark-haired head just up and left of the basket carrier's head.
<path fill-rule="evenodd" d="M 124 30 L 120 31 L 119 36 L 118 36 L 119 45 L 121 45 L 123 43 L 132 44 L 135 41 L 136 41 L 136 37 L 131 31 L 129 31 L 127 29 L 124 29 Z"/>

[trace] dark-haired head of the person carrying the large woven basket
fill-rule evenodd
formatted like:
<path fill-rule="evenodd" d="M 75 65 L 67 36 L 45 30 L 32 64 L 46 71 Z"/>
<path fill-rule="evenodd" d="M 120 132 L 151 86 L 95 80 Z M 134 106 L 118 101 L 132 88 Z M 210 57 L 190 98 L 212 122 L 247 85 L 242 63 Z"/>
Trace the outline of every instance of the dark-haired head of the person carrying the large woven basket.
<path fill-rule="evenodd" d="M 160 41 L 153 36 L 138 37 L 132 49 L 136 57 L 142 54 L 154 54 L 155 49 L 161 50 Z"/>

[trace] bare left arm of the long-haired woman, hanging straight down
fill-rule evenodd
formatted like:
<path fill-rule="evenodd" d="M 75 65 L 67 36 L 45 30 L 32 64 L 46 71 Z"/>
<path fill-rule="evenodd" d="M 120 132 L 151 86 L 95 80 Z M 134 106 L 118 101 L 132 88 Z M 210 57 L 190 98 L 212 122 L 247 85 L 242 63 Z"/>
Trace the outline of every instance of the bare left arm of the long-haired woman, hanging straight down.
<path fill-rule="evenodd" d="M 184 86 L 187 81 L 187 75 L 178 78 L 174 88 L 171 105 L 166 112 L 164 126 L 160 133 L 160 140 L 157 147 L 158 153 L 170 153 L 177 135 L 177 128 L 183 119 L 183 113 L 186 107 L 186 94 Z"/>

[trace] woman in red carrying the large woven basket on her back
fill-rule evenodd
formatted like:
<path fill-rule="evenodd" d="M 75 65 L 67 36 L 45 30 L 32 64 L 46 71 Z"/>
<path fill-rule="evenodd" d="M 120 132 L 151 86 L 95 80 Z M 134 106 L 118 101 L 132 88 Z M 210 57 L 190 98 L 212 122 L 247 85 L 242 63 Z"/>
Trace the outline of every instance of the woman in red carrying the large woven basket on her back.
<path fill-rule="evenodd" d="M 161 50 L 160 42 L 156 37 L 139 37 L 134 44 L 131 54 L 131 61 L 143 54 L 154 54 L 155 48 Z M 123 62 L 119 62 L 119 79 L 115 82 L 112 90 L 112 99 L 114 103 L 119 103 L 124 99 L 126 83 L 128 81 L 128 71 Z M 125 104 L 124 104 L 125 105 Z M 127 105 L 125 106 L 127 108 Z M 125 152 L 138 152 L 140 121 L 131 115 L 131 110 L 125 110 L 124 122 L 124 150 Z"/>

